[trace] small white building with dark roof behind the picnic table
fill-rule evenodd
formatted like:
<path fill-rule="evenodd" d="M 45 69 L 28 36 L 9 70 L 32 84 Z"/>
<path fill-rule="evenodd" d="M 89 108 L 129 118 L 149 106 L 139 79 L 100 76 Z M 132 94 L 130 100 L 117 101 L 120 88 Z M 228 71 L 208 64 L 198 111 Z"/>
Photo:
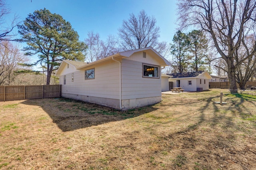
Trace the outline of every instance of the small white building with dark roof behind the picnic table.
<path fill-rule="evenodd" d="M 172 76 L 169 82 L 172 82 L 173 87 L 182 87 L 185 91 L 202 91 L 209 90 L 209 80 L 212 79 L 206 71 L 185 72 L 168 74 Z"/>

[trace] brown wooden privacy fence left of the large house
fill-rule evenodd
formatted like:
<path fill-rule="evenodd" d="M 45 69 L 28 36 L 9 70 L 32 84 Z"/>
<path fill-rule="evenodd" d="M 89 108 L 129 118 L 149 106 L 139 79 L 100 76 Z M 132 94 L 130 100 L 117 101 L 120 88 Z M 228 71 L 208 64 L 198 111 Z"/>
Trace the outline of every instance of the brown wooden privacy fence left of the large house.
<path fill-rule="evenodd" d="M 61 85 L 0 86 L 0 101 L 61 96 Z"/>

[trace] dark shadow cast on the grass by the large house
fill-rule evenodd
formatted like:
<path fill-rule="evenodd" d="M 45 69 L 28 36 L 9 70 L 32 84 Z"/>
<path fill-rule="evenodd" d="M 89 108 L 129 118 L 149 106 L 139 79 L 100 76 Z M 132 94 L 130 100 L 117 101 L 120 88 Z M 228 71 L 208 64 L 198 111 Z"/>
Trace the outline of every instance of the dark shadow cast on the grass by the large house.
<path fill-rule="evenodd" d="M 22 104 L 40 106 L 63 132 L 134 118 L 157 109 L 152 105 L 120 111 L 68 98 L 26 100 Z"/>

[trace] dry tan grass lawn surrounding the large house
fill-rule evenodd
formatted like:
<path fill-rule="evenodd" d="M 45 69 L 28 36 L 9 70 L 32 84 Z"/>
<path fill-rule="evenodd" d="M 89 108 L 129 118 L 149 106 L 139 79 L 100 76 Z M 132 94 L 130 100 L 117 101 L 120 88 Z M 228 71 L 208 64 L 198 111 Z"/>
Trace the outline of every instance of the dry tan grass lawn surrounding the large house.
<path fill-rule="evenodd" d="M 220 105 L 220 92 L 223 102 Z M 164 94 L 117 111 L 65 98 L 0 102 L 0 169 L 254 170 L 256 92 Z"/>

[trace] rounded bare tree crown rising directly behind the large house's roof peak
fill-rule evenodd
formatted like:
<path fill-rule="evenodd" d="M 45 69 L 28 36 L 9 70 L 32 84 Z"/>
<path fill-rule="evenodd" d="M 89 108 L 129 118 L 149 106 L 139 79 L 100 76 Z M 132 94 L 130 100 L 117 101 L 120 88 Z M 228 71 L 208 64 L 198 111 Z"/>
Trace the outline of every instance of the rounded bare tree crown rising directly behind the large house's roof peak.
<path fill-rule="evenodd" d="M 166 46 L 166 42 L 158 42 L 160 28 L 156 26 L 156 18 L 148 16 L 144 10 L 138 16 L 130 14 L 118 31 L 120 46 L 124 51 L 151 46 L 163 53 L 163 46 Z"/>

